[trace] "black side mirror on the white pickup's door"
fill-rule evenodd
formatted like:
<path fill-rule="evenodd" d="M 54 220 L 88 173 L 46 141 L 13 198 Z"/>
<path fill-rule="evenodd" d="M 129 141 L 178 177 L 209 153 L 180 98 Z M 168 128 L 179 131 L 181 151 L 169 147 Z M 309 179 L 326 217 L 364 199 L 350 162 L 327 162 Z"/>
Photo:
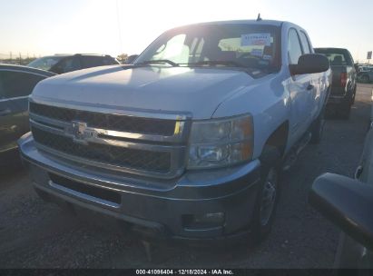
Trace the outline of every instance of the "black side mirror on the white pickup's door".
<path fill-rule="evenodd" d="M 328 71 L 329 59 L 323 54 L 303 54 L 298 64 L 290 65 L 291 74 L 313 74 Z"/>

